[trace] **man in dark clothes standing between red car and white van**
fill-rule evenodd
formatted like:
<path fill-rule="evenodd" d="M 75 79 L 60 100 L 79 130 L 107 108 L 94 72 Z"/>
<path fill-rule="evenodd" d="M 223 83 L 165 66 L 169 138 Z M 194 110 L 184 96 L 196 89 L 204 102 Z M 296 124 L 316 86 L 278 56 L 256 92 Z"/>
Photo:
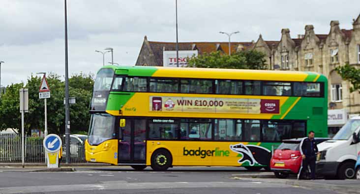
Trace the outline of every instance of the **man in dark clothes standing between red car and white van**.
<path fill-rule="evenodd" d="M 315 180 L 315 165 L 316 165 L 316 156 L 319 154 L 318 146 L 314 140 L 315 133 L 313 131 L 309 132 L 307 138 L 303 139 L 301 144 L 301 156 L 302 156 L 302 170 L 300 170 L 300 178 L 301 171 L 306 171 L 307 166 L 310 166 L 311 170 L 311 179 Z"/>

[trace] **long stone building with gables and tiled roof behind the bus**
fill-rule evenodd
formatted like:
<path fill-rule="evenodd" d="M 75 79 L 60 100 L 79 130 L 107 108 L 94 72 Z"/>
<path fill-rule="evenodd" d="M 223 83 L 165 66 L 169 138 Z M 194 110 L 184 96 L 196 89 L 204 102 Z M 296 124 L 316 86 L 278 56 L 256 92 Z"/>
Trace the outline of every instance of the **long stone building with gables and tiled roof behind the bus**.
<path fill-rule="evenodd" d="M 164 65 L 164 51 L 175 51 L 174 42 L 148 41 L 145 36 L 136 65 Z M 360 65 L 360 15 L 352 29 L 341 29 L 339 21 L 330 22 L 328 34 L 316 34 L 313 25 L 306 25 L 303 35 L 291 38 L 290 30 L 281 30 L 279 41 L 266 41 L 262 35 L 256 42 L 232 42 L 231 50 L 255 49 L 265 53 L 273 70 L 315 71 L 329 79 L 329 133 L 336 133 L 349 117 L 360 113 L 359 92 L 350 93 L 350 83 L 334 71 L 349 63 Z M 181 42 L 179 51 L 197 51 L 198 55 L 221 51 L 228 53 L 227 42 Z"/>

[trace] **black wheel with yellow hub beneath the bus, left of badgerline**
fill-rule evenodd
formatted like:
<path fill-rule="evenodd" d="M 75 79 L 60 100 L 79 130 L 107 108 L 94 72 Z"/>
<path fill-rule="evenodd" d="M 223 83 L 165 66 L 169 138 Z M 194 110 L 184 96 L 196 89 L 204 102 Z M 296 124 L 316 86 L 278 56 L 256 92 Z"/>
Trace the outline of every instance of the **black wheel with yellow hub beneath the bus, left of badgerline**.
<path fill-rule="evenodd" d="M 173 157 L 169 151 L 158 149 L 151 155 L 151 168 L 156 171 L 167 170 L 173 164 Z"/>

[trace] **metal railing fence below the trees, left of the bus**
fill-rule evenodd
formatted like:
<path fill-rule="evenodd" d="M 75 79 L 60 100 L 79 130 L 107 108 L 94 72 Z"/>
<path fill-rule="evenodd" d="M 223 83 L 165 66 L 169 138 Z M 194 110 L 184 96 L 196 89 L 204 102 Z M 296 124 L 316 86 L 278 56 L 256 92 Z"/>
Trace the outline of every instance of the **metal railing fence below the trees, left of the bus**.
<path fill-rule="evenodd" d="M 66 150 L 64 149 L 65 139 L 60 136 L 62 145 L 62 163 L 65 162 Z M 25 162 L 45 163 L 45 150 L 43 139 L 39 137 L 25 136 Z M 80 141 L 70 141 L 70 162 L 86 163 L 85 144 Z M 21 163 L 21 135 L 0 134 L 0 163 Z"/>

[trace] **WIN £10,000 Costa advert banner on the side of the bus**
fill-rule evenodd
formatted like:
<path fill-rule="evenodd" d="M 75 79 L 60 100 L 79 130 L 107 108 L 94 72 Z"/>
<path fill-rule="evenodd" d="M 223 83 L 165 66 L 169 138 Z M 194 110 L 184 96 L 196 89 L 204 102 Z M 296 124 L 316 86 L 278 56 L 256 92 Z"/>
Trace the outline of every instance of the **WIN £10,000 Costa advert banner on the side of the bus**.
<path fill-rule="evenodd" d="M 149 100 L 150 111 L 253 114 L 280 112 L 279 100 L 273 99 L 150 96 Z"/>

